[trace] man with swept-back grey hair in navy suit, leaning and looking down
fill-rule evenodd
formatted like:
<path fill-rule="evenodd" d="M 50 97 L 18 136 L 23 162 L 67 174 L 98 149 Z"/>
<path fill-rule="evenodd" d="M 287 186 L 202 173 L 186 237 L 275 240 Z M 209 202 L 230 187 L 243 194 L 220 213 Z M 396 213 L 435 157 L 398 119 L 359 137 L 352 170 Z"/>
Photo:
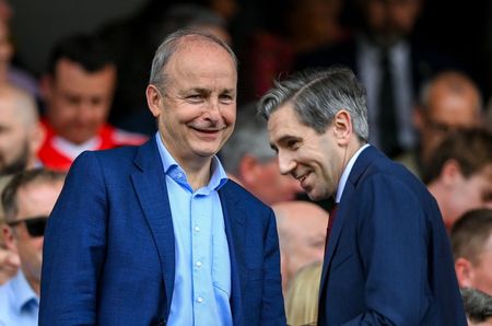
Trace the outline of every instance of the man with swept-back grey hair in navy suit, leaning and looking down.
<path fill-rule="evenodd" d="M 365 90 L 347 68 L 302 72 L 260 102 L 280 171 L 335 197 L 319 325 L 466 325 L 437 205 L 367 143 Z"/>

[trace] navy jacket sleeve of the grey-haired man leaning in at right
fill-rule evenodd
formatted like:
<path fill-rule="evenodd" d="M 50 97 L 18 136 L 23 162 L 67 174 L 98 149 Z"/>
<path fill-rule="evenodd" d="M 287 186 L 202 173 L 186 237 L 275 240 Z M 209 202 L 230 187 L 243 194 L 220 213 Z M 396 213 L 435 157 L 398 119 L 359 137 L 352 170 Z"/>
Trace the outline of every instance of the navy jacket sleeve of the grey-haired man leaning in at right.
<path fill-rule="evenodd" d="M 344 325 L 419 325 L 430 305 L 423 203 L 388 175 L 361 187 L 356 238 L 366 311 Z"/>

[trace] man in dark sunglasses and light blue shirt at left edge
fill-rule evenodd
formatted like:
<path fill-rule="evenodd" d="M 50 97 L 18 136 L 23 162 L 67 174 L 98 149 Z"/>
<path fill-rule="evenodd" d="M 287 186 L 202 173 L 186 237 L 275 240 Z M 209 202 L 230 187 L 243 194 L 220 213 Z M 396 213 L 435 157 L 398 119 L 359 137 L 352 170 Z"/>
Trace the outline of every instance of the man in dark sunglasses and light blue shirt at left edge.
<path fill-rule="evenodd" d="M 2 193 L 2 233 L 21 268 L 0 287 L 0 325 L 37 325 L 45 226 L 63 181 L 63 173 L 28 170 L 14 175 Z"/>

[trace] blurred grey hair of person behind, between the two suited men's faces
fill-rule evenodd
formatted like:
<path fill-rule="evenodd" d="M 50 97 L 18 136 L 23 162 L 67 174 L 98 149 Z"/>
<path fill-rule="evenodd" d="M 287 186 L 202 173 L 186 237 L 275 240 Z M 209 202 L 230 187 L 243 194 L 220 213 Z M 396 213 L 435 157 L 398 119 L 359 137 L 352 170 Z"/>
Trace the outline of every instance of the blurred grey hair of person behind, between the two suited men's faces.
<path fill-rule="evenodd" d="M 267 121 L 257 115 L 256 103 L 237 110 L 234 132 L 221 150 L 221 162 L 225 171 L 237 174 L 245 155 L 251 155 L 260 162 L 276 159 L 268 140 Z"/>

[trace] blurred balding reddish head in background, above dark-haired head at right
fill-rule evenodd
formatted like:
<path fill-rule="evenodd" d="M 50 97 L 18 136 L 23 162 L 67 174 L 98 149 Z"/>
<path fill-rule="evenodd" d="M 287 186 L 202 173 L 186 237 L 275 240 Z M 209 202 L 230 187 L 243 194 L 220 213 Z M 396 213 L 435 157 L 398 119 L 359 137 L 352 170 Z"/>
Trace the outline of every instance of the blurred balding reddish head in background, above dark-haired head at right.
<path fill-rule="evenodd" d="M 458 71 L 445 71 L 426 82 L 414 110 L 422 161 L 450 131 L 481 125 L 482 101 L 478 86 Z"/>

